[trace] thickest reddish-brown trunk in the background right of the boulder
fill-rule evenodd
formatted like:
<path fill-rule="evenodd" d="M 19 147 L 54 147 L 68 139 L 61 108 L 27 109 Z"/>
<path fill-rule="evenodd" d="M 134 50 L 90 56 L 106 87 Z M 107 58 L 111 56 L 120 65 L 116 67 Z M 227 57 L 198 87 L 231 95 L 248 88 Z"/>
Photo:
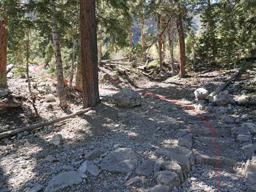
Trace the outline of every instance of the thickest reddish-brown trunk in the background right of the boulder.
<path fill-rule="evenodd" d="M 185 52 L 185 37 L 184 37 L 184 29 L 182 24 L 182 15 L 180 13 L 180 4 L 179 0 L 174 0 L 175 4 L 178 5 L 178 8 L 176 9 L 176 26 L 178 30 L 178 36 L 179 36 L 179 45 L 180 45 L 180 77 L 185 77 L 186 71 L 185 71 L 185 65 L 186 65 L 186 52 Z"/>

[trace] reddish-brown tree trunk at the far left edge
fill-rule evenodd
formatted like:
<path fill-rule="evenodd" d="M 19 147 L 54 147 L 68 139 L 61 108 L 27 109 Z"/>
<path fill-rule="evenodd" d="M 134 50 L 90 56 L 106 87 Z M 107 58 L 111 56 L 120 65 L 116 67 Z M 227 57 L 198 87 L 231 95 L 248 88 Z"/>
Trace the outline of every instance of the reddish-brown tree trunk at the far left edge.
<path fill-rule="evenodd" d="M 3 16 L 3 20 L 0 20 L 0 88 L 7 86 L 6 78 L 6 63 L 7 63 L 7 16 Z"/>

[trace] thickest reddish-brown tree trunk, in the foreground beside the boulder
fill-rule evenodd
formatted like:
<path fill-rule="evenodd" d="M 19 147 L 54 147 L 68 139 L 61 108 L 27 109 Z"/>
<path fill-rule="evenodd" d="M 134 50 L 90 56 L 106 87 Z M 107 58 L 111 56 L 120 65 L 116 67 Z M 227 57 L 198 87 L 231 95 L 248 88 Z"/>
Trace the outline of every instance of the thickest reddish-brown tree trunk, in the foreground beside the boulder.
<path fill-rule="evenodd" d="M 84 108 L 100 102 L 97 66 L 95 1 L 80 1 L 81 63 Z"/>

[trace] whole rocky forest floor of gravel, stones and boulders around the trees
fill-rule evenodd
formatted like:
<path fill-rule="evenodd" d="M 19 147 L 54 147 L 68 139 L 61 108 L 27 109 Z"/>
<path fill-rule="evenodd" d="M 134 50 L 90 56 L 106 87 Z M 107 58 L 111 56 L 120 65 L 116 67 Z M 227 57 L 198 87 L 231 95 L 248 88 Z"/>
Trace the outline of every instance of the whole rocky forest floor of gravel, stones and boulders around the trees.
<path fill-rule="evenodd" d="M 256 100 L 255 92 L 243 89 L 255 87 L 255 72 L 251 79 L 234 79 L 214 102 L 204 100 L 229 75 L 214 71 L 154 82 L 101 69 L 102 88 L 136 91 L 101 89 L 101 103 L 88 113 L 0 140 L 0 191 L 256 191 L 255 106 L 239 104 Z M 22 105 L 0 109 L 0 132 L 65 115 L 56 84 L 32 76 L 40 117 L 26 80 L 10 79 L 0 100 Z M 198 88 L 208 92 L 198 90 L 196 100 Z M 81 95 L 71 91 L 69 104 L 71 112 L 80 110 Z"/>

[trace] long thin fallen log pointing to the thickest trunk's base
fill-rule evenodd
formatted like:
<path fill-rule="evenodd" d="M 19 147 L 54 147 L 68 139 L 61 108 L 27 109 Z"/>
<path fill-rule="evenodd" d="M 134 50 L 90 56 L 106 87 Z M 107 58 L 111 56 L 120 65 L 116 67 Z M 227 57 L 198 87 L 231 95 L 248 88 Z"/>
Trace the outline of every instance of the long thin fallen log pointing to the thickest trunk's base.
<path fill-rule="evenodd" d="M 14 130 L 11 130 L 11 131 L 3 132 L 3 133 L 0 133 L 0 139 L 3 139 L 5 137 L 9 137 L 11 135 L 15 135 L 15 134 L 20 133 L 20 132 L 33 131 L 34 129 L 37 129 L 37 128 L 49 126 L 49 125 L 52 125 L 54 123 L 57 123 L 57 122 L 60 122 L 60 121 L 64 121 L 66 119 L 70 119 L 70 118 L 75 117 L 77 115 L 81 115 L 83 113 L 86 113 L 86 112 L 88 112 L 91 109 L 92 108 L 89 107 L 87 109 L 81 110 L 80 112 L 72 113 L 70 115 L 66 115 L 66 116 L 60 117 L 58 119 L 54 119 L 54 120 L 46 121 L 46 122 L 41 122 L 41 123 L 37 123 L 35 125 L 30 125 L 30 126 L 22 127 L 22 128 L 19 128 L 19 129 L 14 129 Z"/>

